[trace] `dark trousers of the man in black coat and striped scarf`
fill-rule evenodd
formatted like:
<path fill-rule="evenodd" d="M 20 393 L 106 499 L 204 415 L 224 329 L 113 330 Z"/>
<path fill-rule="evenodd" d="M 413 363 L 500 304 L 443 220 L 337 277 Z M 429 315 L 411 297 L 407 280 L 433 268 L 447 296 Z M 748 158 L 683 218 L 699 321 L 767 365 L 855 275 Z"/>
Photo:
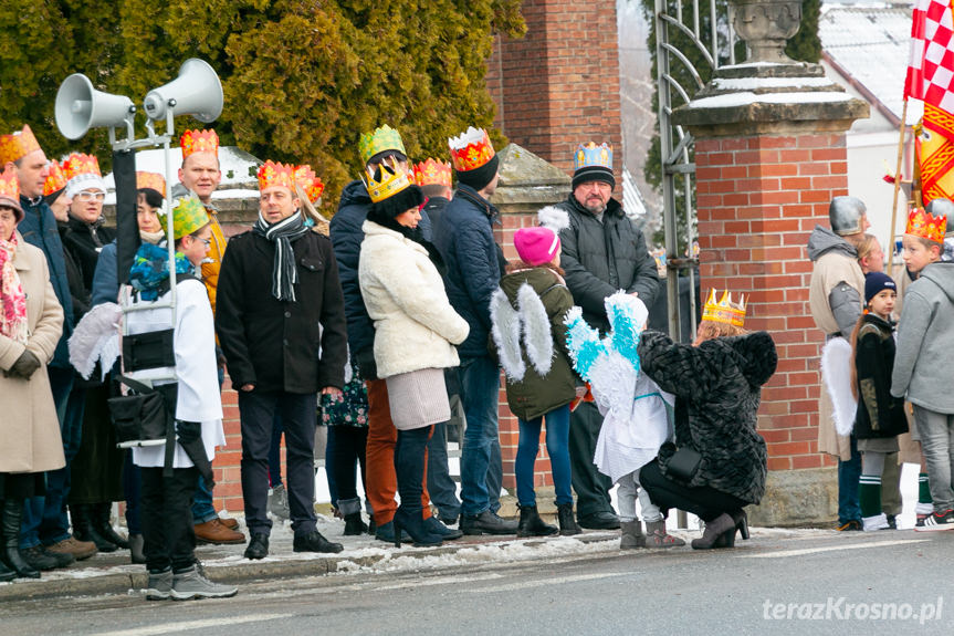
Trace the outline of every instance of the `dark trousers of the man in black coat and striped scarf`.
<path fill-rule="evenodd" d="M 282 415 L 285 434 L 285 490 L 295 534 L 315 530 L 315 427 L 318 397 L 260 390 L 239 392 L 242 419 L 242 499 L 251 534 L 269 534 L 269 449 L 275 411 Z"/>

